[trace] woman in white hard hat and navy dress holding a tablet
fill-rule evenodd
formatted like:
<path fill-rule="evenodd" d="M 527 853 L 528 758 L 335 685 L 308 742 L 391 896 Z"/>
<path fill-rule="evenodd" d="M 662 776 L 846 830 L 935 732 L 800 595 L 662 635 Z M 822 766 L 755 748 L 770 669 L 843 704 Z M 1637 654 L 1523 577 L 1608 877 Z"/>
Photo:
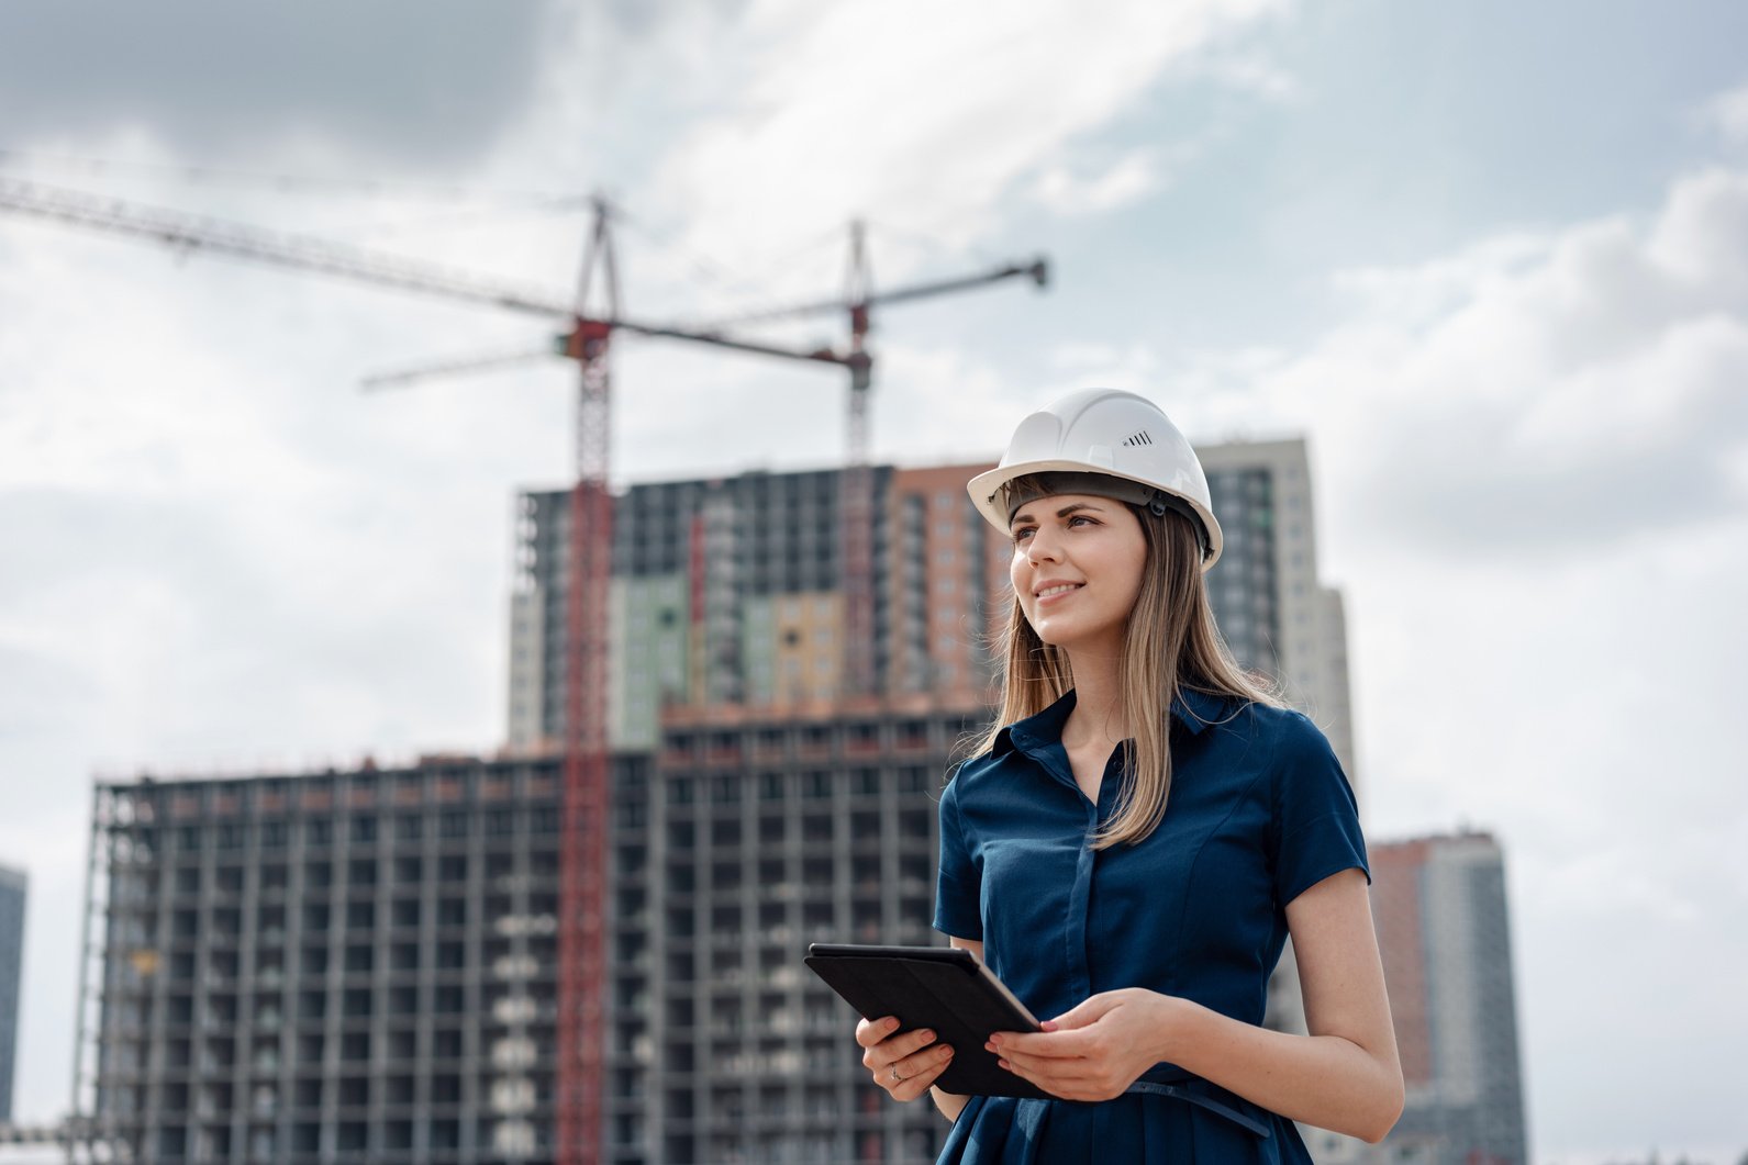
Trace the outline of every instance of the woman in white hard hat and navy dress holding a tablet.
<path fill-rule="evenodd" d="M 1042 1032 L 1003 1067 L 1061 1100 L 932 1088 L 953 1048 L 857 1025 L 874 1081 L 933 1093 L 940 1162 L 1309 1162 L 1294 1121 L 1402 1111 L 1353 793 L 1309 720 L 1232 662 L 1201 463 L 1133 393 L 1026 417 L 972 500 L 1014 541 L 1002 714 L 940 800 L 935 927 Z M 1292 936 L 1309 1036 L 1262 1027 Z"/>

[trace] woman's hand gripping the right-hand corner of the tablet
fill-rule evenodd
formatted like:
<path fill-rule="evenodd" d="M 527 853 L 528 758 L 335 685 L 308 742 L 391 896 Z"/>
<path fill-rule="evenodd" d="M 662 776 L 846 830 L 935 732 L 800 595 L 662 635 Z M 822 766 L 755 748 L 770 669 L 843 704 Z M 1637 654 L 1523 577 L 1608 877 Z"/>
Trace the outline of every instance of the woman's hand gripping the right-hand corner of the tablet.
<path fill-rule="evenodd" d="M 1110 1100 L 1164 1055 L 1182 999 L 1140 987 L 1106 990 L 1042 1032 L 996 1032 L 984 1044 L 1002 1067 L 1065 1100 Z"/>

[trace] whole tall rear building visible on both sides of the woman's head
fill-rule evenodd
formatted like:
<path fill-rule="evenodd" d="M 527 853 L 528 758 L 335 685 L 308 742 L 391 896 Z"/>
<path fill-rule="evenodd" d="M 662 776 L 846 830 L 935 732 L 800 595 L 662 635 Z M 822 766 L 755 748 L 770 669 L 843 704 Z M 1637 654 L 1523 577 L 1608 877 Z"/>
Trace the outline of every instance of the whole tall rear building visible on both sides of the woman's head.
<path fill-rule="evenodd" d="M 1349 777 L 1353 728 L 1341 596 L 1318 580 L 1302 440 L 1210 445 L 1225 534 L 1210 573 L 1220 629 L 1246 667 L 1283 681 Z M 874 676 L 883 693 L 988 700 L 1007 618 L 1009 543 L 965 496 L 984 465 L 872 470 Z M 631 486 L 614 505 L 615 748 L 649 748 L 664 707 L 818 714 L 844 695 L 837 470 Z M 556 748 L 565 711 L 570 494 L 517 501 L 510 597 L 510 748 Z"/>

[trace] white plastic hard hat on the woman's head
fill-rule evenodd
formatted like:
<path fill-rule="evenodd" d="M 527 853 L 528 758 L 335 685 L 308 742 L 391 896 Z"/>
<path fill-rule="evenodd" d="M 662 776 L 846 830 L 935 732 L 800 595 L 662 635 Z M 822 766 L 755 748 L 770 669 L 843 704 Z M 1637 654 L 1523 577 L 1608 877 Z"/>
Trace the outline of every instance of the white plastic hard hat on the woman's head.
<path fill-rule="evenodd" d="M 1007 533 L 1014 510 L 1009 482 L 1033 473 L 1052 493 L 1089 493 L 1140 507 L 1178 510 L 1203 538 L 1203 569 L 1220 557 L 1220 522 L 1213 517 L 1208 477 L 1189 440 L 1159 405 L 1117 388 L 1087 388 L 1038 409 L 1019 423 L 1002 465 L 967 484 L 972 503 Z M 1037 496 L 1037 494 L 1035 494 Z"/>

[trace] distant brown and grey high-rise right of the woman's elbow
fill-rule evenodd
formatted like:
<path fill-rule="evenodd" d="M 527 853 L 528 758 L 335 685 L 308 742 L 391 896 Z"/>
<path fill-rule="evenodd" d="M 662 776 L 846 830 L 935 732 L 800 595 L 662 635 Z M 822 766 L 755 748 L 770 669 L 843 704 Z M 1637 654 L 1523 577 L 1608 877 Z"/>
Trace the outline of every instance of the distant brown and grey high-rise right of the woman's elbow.
<path fill-rule="evenodd" d="M 1486 833 L 1372 845 L 1407 1106 L 1377 1160 L 1526 1165 L 1505 856 Z"/>

